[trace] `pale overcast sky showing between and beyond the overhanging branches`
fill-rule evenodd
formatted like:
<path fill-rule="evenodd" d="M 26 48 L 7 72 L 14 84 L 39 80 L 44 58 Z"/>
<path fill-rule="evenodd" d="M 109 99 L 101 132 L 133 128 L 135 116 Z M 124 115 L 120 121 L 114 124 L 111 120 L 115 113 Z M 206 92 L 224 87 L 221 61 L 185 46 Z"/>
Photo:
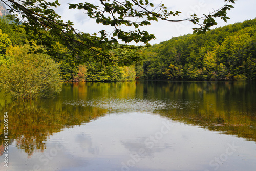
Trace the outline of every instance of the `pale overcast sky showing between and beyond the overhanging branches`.
<path fill-rule="evenodd" d="M 83 13 L 84 11 L 82 10 L 68 10 L 68 3 L 79 3 L 83 1 L 63 0 L 59 2 L 61 3 L 61 8 L 58 7 L 58 9 L 55 9 L 56 12 L 62 16 L 63 20 L 71 20 L 72 22 L 74 22 L 75 28 L 79 29 L 80 31 L 83 31 L 84 33 L 98 33 L 102 29 L 105 29 L 109 32 L 113 31 L 113 28 L 111 28 L 110 26 L 103 26 L 101 24 L 97 24 L 94 19 L 90 19 L 86 14 Z M 99 0 L 89 0 L 86 2 L 99 5 Z M 198 16 L 200 16 L 200 14 L 208 14 L 209 11 L 212 12 L 214 9 L 219 9 L 225 4 L 224 0 L 151 0 L 150 2 L 154 3 L 155 5 L 164 4 L 168 8 L 168 11 L 181 11 L 182 13 L 180 14 L 180 18 L 183 19 L 187 18 L 187 16 L 190 16 L 190 14 L 192 13 L 196 13 L 198 14 Z M 233 6 L 234 8 L 227 13 L 227 16 L 231 19 L 228 20 L 227 23 L 218 19 L 218 25 L 216 27 L 256 18 L 255 0 L 237 0 L 236 4 L 234 4 Z M 179 17 L 174 17 L 172 19 L 179 19 Z M 154 34 L 157 39 L 152 40 L 150 43 L 156 44 L 162 41 L 169 40 L 172 37 L 192 33 L 193 30 L 191 28 L 194 27 L 196 26 L 190 22 L 173 23 L 160 20 L 159 22 L 152 22 L 150 26 L 144 26 L 140 29 L 146 30 L 151 34 Z M 125 29 L 125 27 L 123 27 L 122 29 Z M 127 29 L 131 30 L 132 28 Z"/>

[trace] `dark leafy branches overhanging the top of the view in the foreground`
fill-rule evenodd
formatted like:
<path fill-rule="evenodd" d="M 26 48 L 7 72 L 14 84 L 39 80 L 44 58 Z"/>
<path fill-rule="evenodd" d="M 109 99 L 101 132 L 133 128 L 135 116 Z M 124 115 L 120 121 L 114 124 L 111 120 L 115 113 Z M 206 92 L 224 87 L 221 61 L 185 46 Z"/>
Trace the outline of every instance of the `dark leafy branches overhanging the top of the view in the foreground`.
<path fill-rule="evenodd" d="M 83 10 L 84 13 L 95 22 L 113 27 L 112 33 L 100 30 L 97 33 L 83 33 L 75 29 L 70 21 L 63 21 L 54 9 L 60 6 L 56 1 L 47 2 L 44 0 L 33 1 L 14 1 L 1 0 L 8 6 L 12 14 L 10 19 L 14 24 L 22 23 L 24 25 L 29 40 L 36 41 L 38 45 L 43 45 L 48 54 L 54 54 L 54 45 L 60 43 L 68 48 L 68 52 L 77 60 L 93 58 L 101 63 L 117 63 L 119 66 L 130 64 L 138 60 L 138 56 L 133 55 L 133 50 L 138 46 L 119 44 L 119 41 L 129 43 L 131 41 L 143 42 L 155 38 L 153 34 L 140 30 L 140 26 L 150 25 L 157 20 L 166 20 L 167 22 L 190 21 L 198 27 L 194 32 L 204 33 L 211 26 L 217 24 L 216 18 L 224 21 L 229 19 L 226 16 L 227 10 L 233 8 L 234 0 L 223 0 L 225 5 L 218 10 L 209 12 L 203 16 L 197 14 L 183 20 L 175 20 L 180 11 L 167 11 L 164 4 L 154 6 L 148 0 L 99 0 L 99 6 L 90 1 L 78 4 L 69 4 L 69 9 Z M 131 31 L 124 31 L 120 26 L 133 27 Z M 86 54 L 86 55 L 85 55 Z"/>

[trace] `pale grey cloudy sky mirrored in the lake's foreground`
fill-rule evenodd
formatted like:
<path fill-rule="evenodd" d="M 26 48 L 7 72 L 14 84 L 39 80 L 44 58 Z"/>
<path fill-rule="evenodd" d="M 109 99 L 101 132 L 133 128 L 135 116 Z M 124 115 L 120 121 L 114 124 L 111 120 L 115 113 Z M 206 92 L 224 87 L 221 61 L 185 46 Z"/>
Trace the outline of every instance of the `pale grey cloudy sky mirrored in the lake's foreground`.
<path fill-rule="evenodd" d="M 246 170 L 254 170 L 256 167 L 253 141 L 152 113 L 111 114 L 62 130 L 49 137 L 44 153 L 35 152 L 29 158 L 15 147 L 15 142 L 9 148 L 8 170 L 33 167 L 41 170 L 214 170 L 217 167 L 244 170 L 245 166 Z M 219 161 L 215 161 L 216 157 Z"/>

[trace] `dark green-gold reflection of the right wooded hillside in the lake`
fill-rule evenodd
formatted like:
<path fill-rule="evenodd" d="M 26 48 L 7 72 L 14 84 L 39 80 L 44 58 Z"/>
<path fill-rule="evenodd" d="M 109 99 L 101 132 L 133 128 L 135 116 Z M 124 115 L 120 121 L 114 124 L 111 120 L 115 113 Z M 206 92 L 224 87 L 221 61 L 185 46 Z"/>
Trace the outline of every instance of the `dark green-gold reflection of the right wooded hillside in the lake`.
<path fill-rule="evenodd" d="M 255 82 L 165 82 L 151 89 L 180 102 L 155 113 L 256 142 Z"/>

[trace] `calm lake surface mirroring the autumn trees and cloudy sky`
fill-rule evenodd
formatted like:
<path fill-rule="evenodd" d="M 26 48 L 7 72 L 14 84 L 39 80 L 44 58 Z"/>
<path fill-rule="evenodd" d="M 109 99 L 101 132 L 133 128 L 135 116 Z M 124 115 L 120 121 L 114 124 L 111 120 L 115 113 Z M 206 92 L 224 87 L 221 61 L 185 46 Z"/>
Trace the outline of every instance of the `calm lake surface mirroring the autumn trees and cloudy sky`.
<path fill-rule="evenodd" d="M 256 170 L 256 82 L 64 83 L 54 99 L 0 96 L 0 170 Z"/>

